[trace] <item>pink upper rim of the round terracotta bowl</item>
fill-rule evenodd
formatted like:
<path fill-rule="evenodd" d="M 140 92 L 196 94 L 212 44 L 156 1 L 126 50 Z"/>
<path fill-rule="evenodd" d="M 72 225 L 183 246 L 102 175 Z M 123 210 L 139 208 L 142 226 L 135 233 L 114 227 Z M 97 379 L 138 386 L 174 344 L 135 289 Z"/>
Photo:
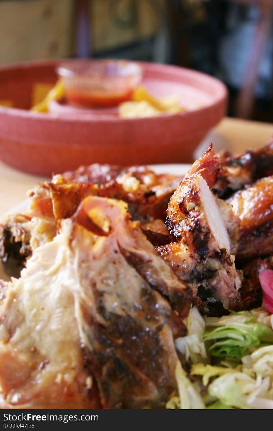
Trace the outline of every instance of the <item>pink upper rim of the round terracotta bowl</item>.
<path fill-rule="evenodd" d="M 94 59 L 95 60 L 95 59 Z M 73 59 L 54 59 L 54 60 L 35 60 L 35 61 L 28 61 L 28 62 L 20 62 L 20 63 L 12 63 L 5 66 L 0 66 L 0 72 L 2 71 L 9 71 L 10 69 L 27 69 L 30 66 L 36 66 L 36 67 L 43 67 L 43 66 L 55 66 L 57 67 L 61 62 L 66 61 L 73 61 Z M 75 59 L 75 61 L 78 61 L 78 59 Z M 214 78 L 213 76 L 207 75 L 203 72 L 198 72 L 193 69 L 188 69 L 185 67 L 180 66 L 173 66 L 173 65 L 167 65 L 167 64 L 161 64 L 161 63 L 151 63 L 151 62 L 138 62 L 140 66 L 143 67 L 143 72 L 145 73 L 145 70 L 155 70 L 163 69 L 168 73 L 173 73 L 174 75 L 179 75 L 179 72 L 183 73 L 184 77 L 188 78 L 195 78 L 197 81 L 204 81 L 207 80 L 208 83 L 213 84 L 215 90 L 217 90 L 218 94 L 214 98 L 214 100 L 205 106 L 202 106 L 195 110 L 189 110 L 185 112 L 178 112 L 176 114 L 164 114 L 162 116 L 158 117 L 145 117 L 145 118 L 119 118 L 119 117 L 111 117 L 109 115 L 96 115 L 92 116 L 91 114 L 81 115 L 81 116 L 69 116 L 68 114 L 66 116 L 60 116 L 52 112 L 33 112 L 26 109 L 19 109 L 19 108 L 9 108 L 6 106 L 0 106 L 0 114 L 7 114 L 9 117 L 16 116 L 20 118 L 25 118 L 26 120 L 41 120 L 41 122 L 44 121 L 50 121 L 54 120 L 54 122 L 71 122 L 71 123 L 130 123 L 130 122 L 145 122 L 145 123 L 154 123 L 155 121 L 164 121 L 166 119 L 177 119 L 177 118 L 187 118 L 187 117 L 194 117 L 199 116 L 200 114 L 203 114 L 205 111 L 215 109 L 215 107 L 218 104 L 226 103 L 227 97 L 228 97 L 228 91 L 227 87 L 223 82 L 221 82 L 219 79 Z"/>

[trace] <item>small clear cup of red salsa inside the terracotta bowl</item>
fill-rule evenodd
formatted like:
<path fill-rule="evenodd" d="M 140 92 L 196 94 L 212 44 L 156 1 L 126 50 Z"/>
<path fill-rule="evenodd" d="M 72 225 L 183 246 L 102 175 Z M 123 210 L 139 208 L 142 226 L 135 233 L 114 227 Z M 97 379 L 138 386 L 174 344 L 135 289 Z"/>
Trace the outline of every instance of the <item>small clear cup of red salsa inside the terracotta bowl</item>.
<path fill-rule="evenodd" d="M 112 59 L 72 60 L 60 64 L 57 73 L 67 101 L 91 108 L 109 108 L 129 100 L 142 78 L 138 63 Z"/>

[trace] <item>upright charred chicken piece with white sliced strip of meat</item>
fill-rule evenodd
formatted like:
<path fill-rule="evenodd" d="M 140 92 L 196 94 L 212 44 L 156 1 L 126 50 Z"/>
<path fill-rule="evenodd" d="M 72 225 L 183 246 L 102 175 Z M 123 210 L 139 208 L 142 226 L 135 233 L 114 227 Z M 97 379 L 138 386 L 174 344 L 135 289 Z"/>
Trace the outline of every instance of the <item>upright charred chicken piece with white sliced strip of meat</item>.
<path fill-rule="evenodd" d="M 211 149 L 209 156 L 214 164 Z M 204 177 L 213 182 L 214 173 L 212 169 L 208 174 L 203 162 L 204 156 L 201 169 L 195 162 L 195 169 L 190 171 L 195 173 L 186 175 L 171 197 L 166 227 L 175 240 L 158 250 L 179 278 L 191 286 L 199 310 L 219 314 L 239 298 L 242 277 L 231 254 L 236 248 L 239 221 L 231 207 L 210 191 Z M 214 166 L 217 170 L 217 160 Z M 232 238 L 225 223 L 231 227 Z"/>

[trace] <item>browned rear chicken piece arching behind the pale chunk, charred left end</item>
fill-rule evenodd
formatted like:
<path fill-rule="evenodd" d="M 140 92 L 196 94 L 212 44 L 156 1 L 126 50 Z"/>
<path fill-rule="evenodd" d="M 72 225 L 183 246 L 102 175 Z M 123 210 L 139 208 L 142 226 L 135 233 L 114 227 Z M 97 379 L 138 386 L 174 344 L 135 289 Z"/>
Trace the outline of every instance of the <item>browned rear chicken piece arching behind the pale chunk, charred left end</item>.
<path fill-rule="evenodd" d="M 169 197 L 178 182 L 176 175 L 157 175 L 145 166 L 94 164 L 55 175 L 52 181 L 29 192 L 31 202 L 24 214 L 7 216 L 1 221 L 0 258 L 6 272 L 18 277 L 34 248 L 42 240 L 44 243 L 52 240 L 59 221 L 71 217 L 85 197 L 122 199 L 129 204 L 135 220 L 163 221 Z"/>

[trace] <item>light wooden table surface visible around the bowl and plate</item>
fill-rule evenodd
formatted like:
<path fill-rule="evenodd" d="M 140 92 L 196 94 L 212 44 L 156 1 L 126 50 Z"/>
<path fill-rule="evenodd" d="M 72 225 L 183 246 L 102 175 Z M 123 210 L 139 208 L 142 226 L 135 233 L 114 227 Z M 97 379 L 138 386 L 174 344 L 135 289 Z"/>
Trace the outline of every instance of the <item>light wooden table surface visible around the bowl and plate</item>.
<path fill-rule="evenodd" d="M 273 136 L 273 124 L 225 118 L 214 131 L 226 142 L 225 149 L 238 154 L 265 145 Z M 43 177 L 17 171 L 0 162 L 0 215 L 22 202 L 26 192 L 43 180 Z"/>

